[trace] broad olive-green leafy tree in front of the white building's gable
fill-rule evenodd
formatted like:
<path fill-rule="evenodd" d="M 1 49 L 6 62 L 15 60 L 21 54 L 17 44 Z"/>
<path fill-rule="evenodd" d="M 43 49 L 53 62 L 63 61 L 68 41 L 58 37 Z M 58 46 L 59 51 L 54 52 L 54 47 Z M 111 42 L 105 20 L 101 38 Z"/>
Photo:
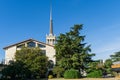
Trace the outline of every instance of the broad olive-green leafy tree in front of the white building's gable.
<path fill-rule="evenodd" d="M 47 72 L 48 58 L 40 48 L 24 47 L 16 52 L 15 59 L 25 64 L 33 78 L 45 76 Z"/>

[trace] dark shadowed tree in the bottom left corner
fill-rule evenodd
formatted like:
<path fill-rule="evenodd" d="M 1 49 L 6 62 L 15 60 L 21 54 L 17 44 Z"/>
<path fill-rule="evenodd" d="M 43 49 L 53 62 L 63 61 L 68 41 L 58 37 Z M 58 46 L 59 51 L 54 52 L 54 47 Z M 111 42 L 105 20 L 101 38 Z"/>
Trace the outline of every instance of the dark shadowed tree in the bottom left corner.
<path fill-rule="evenodd" d="M 23 67 L 24 63 L 20 61 L 12 61 L 9 65 L 5 66 L 2 70 L 2 78 L 3 80 L 7 80 L 8 78 L 10 80 L 19 80 L 19 79 L 25 79 L 27 72 L 27 68 Z"/>

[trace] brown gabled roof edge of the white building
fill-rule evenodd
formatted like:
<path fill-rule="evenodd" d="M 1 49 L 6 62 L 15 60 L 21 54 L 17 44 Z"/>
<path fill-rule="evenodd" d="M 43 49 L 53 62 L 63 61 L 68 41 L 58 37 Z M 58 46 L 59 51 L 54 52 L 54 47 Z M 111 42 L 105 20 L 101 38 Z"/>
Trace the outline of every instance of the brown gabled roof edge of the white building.
<path fill-rule="evenodd" d="M 6 46 L 6 47 L 4 47 L 3 49 L 7 49 L 7 48 L 13 47 L 13 46 L 15 46 L 15 45 L 22 44 L 22 43 L 29 42 L 29 41 L 35 41 L 35 42 L 38 42 L 38 43 L 43 44 L 43 45 L 48 45 L 48 46 L 54 47 L 53 45 L 49 45 L 49 44 L 46 44 L 46 43 L 44 43 L 44 42 L 40 42 L 40 41 L 38 41 L 38 40 L 35 40 L 35 39 L 30 38 L 30 39 L 27 39 L 27 40 L 24 40 L 24 41 L 21 41 L 21 42 L 18 42 L 18 43 L 15 43 L 15 44 Z"/>

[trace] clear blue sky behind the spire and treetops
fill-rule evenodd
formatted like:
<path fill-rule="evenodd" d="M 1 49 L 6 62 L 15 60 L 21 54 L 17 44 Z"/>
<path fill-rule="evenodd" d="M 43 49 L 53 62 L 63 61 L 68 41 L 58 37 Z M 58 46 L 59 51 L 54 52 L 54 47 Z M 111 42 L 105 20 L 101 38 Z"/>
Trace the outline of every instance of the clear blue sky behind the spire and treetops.
<path fill-rule="evenodd" d="M 120 51 L 120 0 L 53 0 L 52 10 L 56 36 L 84 24 L 94 59 Z M 45 42 L 49 18 L 50 0 L 0 0 L 0 61 L 5 46 L 29 38 Z"/>

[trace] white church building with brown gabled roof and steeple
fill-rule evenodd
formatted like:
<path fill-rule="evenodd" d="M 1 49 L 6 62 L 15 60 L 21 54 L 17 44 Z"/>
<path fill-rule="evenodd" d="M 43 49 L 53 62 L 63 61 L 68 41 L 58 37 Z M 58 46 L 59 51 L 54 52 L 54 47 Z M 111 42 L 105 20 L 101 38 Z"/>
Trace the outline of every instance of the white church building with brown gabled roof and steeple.
<path fill-rule="evenodd" d="M 34 39 L 24 40 L 9 46 L 4 47 L 5 50 L 5 64 L 8 64 L 9 61 L 14 60 L 16 50 L 20 50 L 22 46 L 25 47 L 39 47 L 45 55 L 48 57 L 49 60 L 53 61 L 54 64 L 55 60 L 55 44 L 56 37 L 53 34 L 53 22 L 52 22 L 52 10 L 50 11 L 50 33 L 46 36 L 46 43 L 40 42 Z"/>

